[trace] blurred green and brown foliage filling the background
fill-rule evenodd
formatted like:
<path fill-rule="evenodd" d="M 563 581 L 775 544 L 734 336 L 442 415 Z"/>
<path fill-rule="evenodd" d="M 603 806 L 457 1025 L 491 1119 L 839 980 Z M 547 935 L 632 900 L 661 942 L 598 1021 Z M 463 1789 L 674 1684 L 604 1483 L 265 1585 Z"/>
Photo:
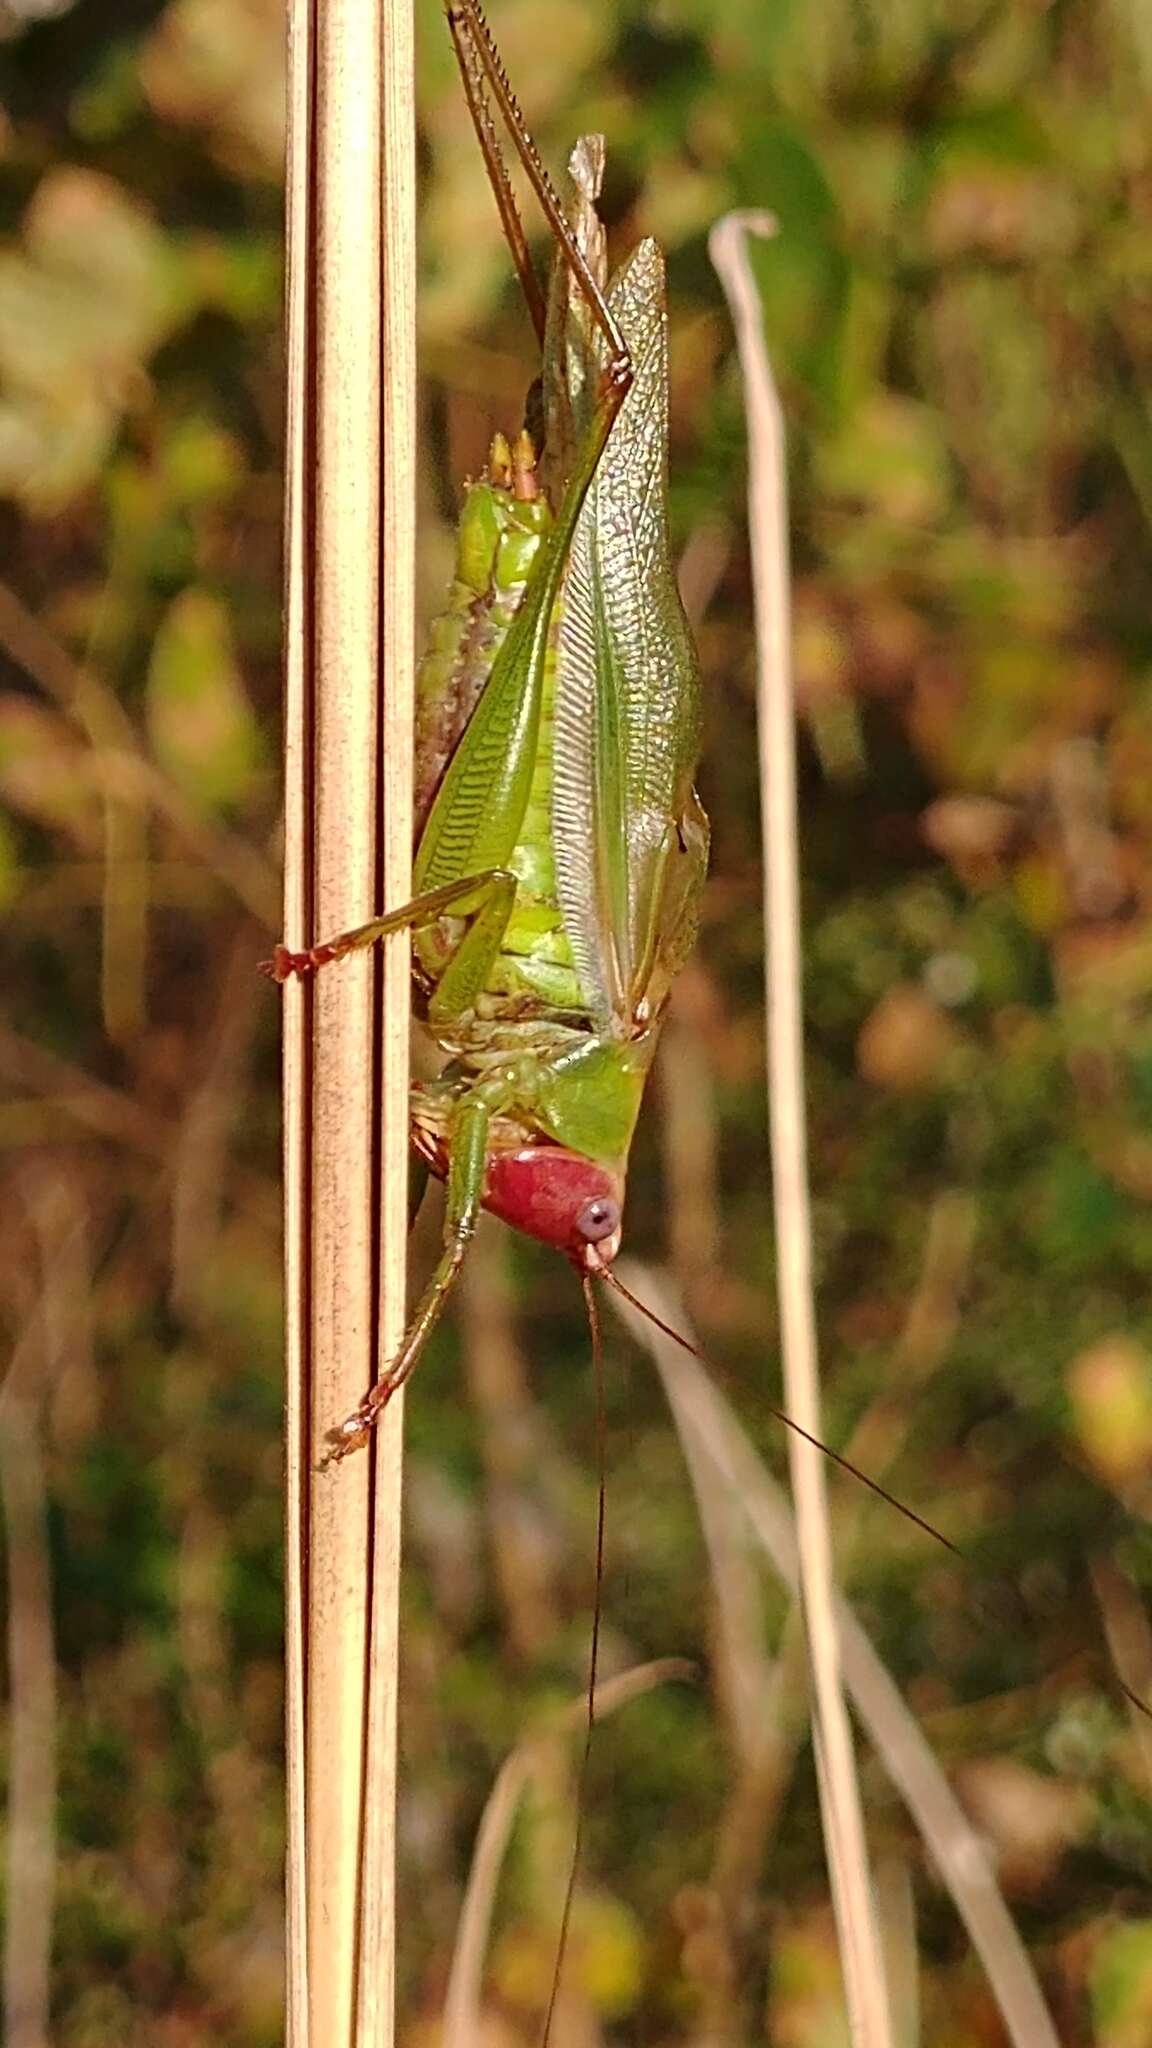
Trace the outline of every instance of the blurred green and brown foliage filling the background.
<path fill-rule="evenodd" d="M 277 1014 L 252 975 L 279 922 L 281 6 L 29 14 L 0 0 L 8 1677 L 47 1528 L 59 2048 L 260 2048 L 283 1849 Z M 779 1462 L 756 1419 L 775 1307 L 744 424 L 705 254 L 724 207 L 767 205 L 828 1430 L 972 1556 L 836 1483 L 853 1595 L 998 1853 L 1062 2040 L 1138 2048 L 1150 1745 L 1109 1663 L 1152 1690 L 1148 10 L 492 16 L 545 158 L 603 127 L 615 240 L 656 231 L 670 260 L 715 862 L 631 1245 L 674 1253 Z M 519 422 L 531 352 L 433 0 L 420 33 L 430 612 L 459 481 Z M 402 2038 L 424 2048 L 492 1778 L 586 1661 L 592 1389 L 543 1253 L 486 1233 L 408 1417 Z M 978 1612 L 982 1569 L 1015 1604 Z M 775 1653 L 775 1587 L 750 1616 Z M 732 2044 L 838 2042 L 795 1653 L 765 1792 L 683 1456 L 613 1329 L 605 1669 L 670 1653 L 699 1681 L 594 1745 L 572 2038 L 693 2042 L 707 2019 Z M 515 1837 L 488 2048 L 535 2038 L 570 1765 L 541 1769 Z M 924 2038 L 1000 2042 L 873 1765 L 867 1794 L 916 1915 Z"/>

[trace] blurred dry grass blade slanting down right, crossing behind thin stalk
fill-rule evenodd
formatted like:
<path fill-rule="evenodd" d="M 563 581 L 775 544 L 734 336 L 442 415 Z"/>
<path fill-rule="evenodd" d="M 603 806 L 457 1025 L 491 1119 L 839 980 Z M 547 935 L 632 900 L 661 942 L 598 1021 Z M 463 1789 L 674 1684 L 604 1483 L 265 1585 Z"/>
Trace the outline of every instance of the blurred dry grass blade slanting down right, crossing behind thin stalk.
<path fill-rule="evenodd" d="M 674 1327 L 685 1327 L 674 1296 L 654 1272 L 621 1262 L 621 1280 L 660 1317 Z M 660 1337 L 644 1317 L 617 1296 L 613 1300 L 631 1335 L 656 1360 L 685 1452 L 689 1444 L 693 1446 L 689 1456 L 693 1483 L 699 1460 L 705 1458 L 715 1468 L 717 1483 L 740 1501 L 773 1569 L 785 1585 L 795 1589 L 797 1532 L 793 1518 L 728 1401 L 715 1391 L 695 1358 Z M 1060 2048 L 1043 1993 L 996 1886 L 980 1835 L 951 1792 L 865 1630 L 842 1599 L 836 1602 L 836 1626 L 845 1679 L 855 1708 L 968 1927 L 1013 2048 Z"/>

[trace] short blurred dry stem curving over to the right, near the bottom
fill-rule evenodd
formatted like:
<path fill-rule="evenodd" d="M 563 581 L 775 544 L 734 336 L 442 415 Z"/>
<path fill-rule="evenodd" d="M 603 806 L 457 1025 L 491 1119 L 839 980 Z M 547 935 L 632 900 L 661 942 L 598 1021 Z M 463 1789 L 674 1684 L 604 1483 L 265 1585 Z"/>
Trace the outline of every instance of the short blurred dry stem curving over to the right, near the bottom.
<path fill-rule="evenodd" d="M 596 1722 L 605 1720 L 621 1706 L 627 1706 L 631 1700 L 640 1700 L 642 1694 L 652 1692 L 654 1686 L 666 1686 L 670 1679 L 693 1679 L 695 1675 L 695 1665 L 683 1657 L 660 1657 L 654 1663 L 635 1665 L 631 1671 L 621 1671 L 617 1677 L 609 1677 L 596 1686 L 592 1696 L 594 1718 Z M 580 1694 L 580 1698 L 570 1700 L 545 1729 L 539 1729 L 523 1743 L 517 1743 L 496 1774 L 496 1782 L 480 1817 L 476 1849 L 471 1851 L 471 1868 L 467 1872 L 463 1907 L 455 1931 L 449 1989 L 445 1997 L 443 2048 L 476 2048 L 476 2042 L 482 2038 L 480 1993 L 484 1956 L 488 1954 L 496 1884 L 500 1880 L 504 1855 L 508 1853 L 517 1810 L 539 1765 L 541 1749 L 547 1749 L 558 1741 L 566 1741 L 582 1729 L 586 1714 L 588 1696 Z"/>

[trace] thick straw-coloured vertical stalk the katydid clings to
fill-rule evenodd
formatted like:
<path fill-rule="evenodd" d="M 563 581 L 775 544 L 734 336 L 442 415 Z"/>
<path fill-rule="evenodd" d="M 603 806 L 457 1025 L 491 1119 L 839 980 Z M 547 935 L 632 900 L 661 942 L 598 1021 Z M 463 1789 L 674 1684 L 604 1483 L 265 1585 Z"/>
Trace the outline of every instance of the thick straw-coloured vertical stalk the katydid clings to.
<path fill-rule="evenodd" d="M 285 938 L 301 946 L 408 893 L 410 0 L 291 0 L 289 59 Z M 371 1456 L 320 1460 L 404 1317 L 406 961 L 400 938 L 383 965 L 285 989 L 291 2048 L 392 2042 L 400 1403 Z"/>

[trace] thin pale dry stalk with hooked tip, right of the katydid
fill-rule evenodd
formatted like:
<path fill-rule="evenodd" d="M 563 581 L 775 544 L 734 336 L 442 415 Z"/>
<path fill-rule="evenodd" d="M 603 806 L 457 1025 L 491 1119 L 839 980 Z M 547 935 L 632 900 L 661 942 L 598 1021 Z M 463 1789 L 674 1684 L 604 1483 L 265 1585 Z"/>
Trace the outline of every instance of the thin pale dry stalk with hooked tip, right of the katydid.
<path fill-rule="evenodd" d="M 765 348 L 760 299 L 748 262 L 746 236 L 750 231 L 773 233 L 775 223 L 763 213 L 730 213 L 711 229 L 709 248 L 736 328 L 748 414 L 748 539 L 756 608 L 756 711 L 765 834 L 769 1124 L 783 1386 L 787 1413 L 801 1430 L 818 1438 L 822 1430 L 804 1110 L 787 469 L 781 403 Z M 791 1432 L 787 1450 L 812 1673 L 820 1812 L 849 2021 L 857 2048 L 890 2048 L 888 1985 L 867 1868 L 853 1735 L 840 1681 L 824 1460 L 814 1444 Z"/>

